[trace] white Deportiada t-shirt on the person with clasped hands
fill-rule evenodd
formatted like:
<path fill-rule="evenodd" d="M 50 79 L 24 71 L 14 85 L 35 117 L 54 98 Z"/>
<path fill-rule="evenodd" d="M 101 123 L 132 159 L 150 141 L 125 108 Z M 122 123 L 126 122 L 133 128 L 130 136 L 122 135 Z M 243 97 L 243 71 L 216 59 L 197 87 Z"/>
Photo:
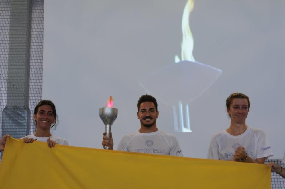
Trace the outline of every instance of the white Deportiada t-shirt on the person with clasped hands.
<path fill-rule="evenodd" d="M 243 146 L 248 156 L 253 160 L 266 159 L 273 156 L 270 143 L 261 129 L 249 128 L 238 136 L 229 134 L 226 130 L 216 133 L 210 143 L 207 159 L 232 160 L 235 149 Z"/>

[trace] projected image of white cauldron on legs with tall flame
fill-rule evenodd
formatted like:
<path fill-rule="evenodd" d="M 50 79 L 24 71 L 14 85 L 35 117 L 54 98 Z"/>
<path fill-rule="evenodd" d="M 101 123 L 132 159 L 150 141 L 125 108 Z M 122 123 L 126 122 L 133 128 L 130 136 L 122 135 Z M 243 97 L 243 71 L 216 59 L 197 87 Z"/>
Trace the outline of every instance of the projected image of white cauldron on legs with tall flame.
<path fill-rule="evenodd" d="M 158 69 L 139 80 L 141 87 L 148 93 L 172 106 L 176 132 L 192 132 L 189 103 L 202 95 L 222 73 L 220 69 L 197 62 L 193 57 L 194 40 L 189 26 L 189 16 L 193 8 L 194 1 L 188 0 L 182 16 L 181 60 L 176 55 L 174 64 Z M 176 95 L 171 95 L 171 91 Z"/>

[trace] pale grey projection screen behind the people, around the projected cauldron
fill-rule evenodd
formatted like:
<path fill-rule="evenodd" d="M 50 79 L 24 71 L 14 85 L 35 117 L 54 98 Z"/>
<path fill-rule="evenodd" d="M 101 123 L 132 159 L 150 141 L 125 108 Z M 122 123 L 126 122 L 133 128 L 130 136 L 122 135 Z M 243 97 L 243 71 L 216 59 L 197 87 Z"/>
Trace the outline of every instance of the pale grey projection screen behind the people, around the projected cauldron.
<path fill-rule="evenodd" d="M 43 99 L 56 104 L 60 124 L 55 135 L 70 145 L 101 148 L 104 125 L 99 108 L 111 95 L 118 108 L 112 126 L 114 147 L 124 134 L 139 129 L 136 104 L 146 93 L 139 81 L 165 90 L 165 83 L 156 83 L 148 74 L 174 64 L 174 55 L 180 55 L 185 3 L 45 1 Z M 273 158 L 283 157 L 284 7 L 282 0 L 195 2 L 190 15 L 194 58 L 222 73 L 194 101 L 184 100 L 191 133 L 174 132 L 172 106 L 158 100 L 158 128 L 176 135 L 186 157 L 205 158 L 213 134 L 229 126 L 225 100 L 233 92 L 249 96 L 247 125 L 262 128 Z M 175 99 L 195 91 L 176 84 L 184 94 L 169 86 Z"/>

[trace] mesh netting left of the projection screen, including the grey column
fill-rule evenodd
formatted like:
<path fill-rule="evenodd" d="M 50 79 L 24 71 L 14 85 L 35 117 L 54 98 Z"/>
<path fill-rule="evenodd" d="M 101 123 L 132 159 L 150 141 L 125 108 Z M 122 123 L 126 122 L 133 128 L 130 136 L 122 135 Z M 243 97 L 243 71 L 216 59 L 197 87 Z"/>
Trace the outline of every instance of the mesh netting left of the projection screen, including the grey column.
<path fill-rule="evenodd" d="M 34 132 L 42 98 L 44 0 L 0 1 L 0 135 Z"/>

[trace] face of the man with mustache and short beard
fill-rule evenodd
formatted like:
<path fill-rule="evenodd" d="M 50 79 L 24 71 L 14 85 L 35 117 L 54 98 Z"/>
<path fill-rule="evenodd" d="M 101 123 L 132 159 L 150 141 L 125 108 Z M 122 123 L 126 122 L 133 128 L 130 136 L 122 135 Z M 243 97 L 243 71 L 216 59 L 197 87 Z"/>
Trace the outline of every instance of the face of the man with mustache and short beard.
<path fill-rule="evenodd" d="M 152 127 L 156 126 L 156 118 L 158 118 L 158 111 L 156 111 L 153 102 L 143 102 L 139 106 L 139 112 L 137 112 L 138 119 L 141 122 L 141 126 Z"/>

